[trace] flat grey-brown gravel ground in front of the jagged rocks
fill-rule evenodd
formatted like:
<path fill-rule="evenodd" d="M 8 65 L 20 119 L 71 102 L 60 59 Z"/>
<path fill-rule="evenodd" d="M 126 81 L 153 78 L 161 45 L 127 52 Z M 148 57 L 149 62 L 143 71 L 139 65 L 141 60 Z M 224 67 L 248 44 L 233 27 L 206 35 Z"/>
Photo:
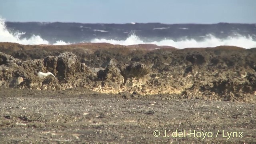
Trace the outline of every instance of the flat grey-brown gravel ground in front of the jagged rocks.
<path fill-rule="evenodd" d="M 249 144 L 256 143 L 255 105 L 160 96 L 124 98 L 86 89 L 1 88 L 0 140 L 18 144 Z"/>

